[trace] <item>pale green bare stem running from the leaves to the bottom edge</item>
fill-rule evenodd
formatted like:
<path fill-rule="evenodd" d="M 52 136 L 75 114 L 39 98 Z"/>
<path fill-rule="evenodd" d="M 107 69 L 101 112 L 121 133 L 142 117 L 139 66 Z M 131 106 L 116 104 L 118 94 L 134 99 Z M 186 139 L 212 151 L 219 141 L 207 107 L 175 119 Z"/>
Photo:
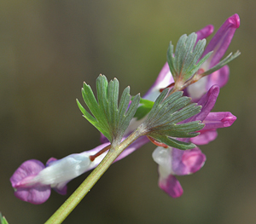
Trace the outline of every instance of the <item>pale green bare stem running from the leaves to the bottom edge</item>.
<path fill-rule="evenodd" d="M 79 204 L 79 202 L 84 198 L 84 196 L 90 192 L 90 189 L 96 184 L 96 182 L 101 178 L 101 176 L 107 171 L 109 166 L 113 161 L 119 157 L 119 154 L 125 150 L 127 146 L 130 146 L 133 141 L 141 136 L 140 131 L 137 129 L 131 135 L 129 135 L 125 141 L 122 141 L 117 146 L 111 146 L 107 155 L 102 159 L 102 162 L 98 164 L 96 169 L 94 169 L 90 175 L 83 181 L 83 183 L 77 188 L 73 194 L 67 198 L 67 201 L 61 205 L 61 207 L 55 211 L 45 224 L 58 224 L 67 218 L 74 208 Z"/>

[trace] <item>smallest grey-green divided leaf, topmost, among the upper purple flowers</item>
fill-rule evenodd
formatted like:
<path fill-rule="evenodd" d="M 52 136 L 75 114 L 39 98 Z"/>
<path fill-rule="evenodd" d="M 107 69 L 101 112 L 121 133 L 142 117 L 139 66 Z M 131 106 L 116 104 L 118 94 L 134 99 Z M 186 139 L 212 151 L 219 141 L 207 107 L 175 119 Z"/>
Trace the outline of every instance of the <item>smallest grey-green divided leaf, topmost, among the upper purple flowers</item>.
<path fill-rule="evenodd" d="M 169 44 L 167 62 L 175 81 L 173 87 L 175 91 L 185 89 L 189 84 L 195 83 L 200 78 L 212 74 L 212 72 L 219 70 L 240 55 L 239 51 L 234 55 L 231 53 L 208 71 L 198 72 L 202 64 L 211 57 L 213 51 L 208 52 L 207 55 L 201 58 L 207 41 L 206 39 L 202 39 L 198 40 L 196 43 L 196 40 L 197 34 L 195 32 L 189 34 L 189 36 L 183 34 L 177 41 L 175 53 L 172 42 Z"/>

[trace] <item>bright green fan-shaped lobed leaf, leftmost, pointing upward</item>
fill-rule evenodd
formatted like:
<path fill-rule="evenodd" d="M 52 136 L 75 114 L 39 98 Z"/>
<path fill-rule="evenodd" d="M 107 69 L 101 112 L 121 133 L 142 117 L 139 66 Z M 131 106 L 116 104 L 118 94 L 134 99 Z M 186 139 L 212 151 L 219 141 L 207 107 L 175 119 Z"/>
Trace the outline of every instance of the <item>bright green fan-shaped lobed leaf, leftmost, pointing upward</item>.
<path fill-rule="evenodd" d="M 90 85 L 84 83 L 82 95 L 90 112 L 87 112 L 77 100 L 79 109 L 84 118 L 101 131 L 108 141 L 119 142 L 137 111 L 140 96 L 136 95 L 130 104 L 130 88 L 127 87 L 119 101 L 119 81 L 114 78 L 108 83 L 108 79 L 102 75 L 96 79 L 96 92 L 97 101 Z"/>

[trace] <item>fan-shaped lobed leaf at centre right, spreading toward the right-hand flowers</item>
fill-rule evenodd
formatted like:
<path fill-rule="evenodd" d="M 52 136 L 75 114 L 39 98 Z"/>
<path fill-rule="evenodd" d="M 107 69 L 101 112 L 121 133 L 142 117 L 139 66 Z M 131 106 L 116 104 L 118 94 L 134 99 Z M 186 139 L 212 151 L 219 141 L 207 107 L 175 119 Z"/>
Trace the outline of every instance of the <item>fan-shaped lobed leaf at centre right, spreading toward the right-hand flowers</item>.
<path fill-rule="evenodd" d="M 148 118 L 141 125 L 143 134 L 168 146 L 179 149 L 194 148 L 194 144 L 177 141 L 175 138 L 191 138 L 200 134 L 196 131 L 204 127 L 201 121 L 184 121 L 199 113 L 201 106 L 191 104 L 189 97 L 182 96 L 183 92 L 166 96 L 168 92 L 169 89 L 165 89 L 154 102 Z"/>

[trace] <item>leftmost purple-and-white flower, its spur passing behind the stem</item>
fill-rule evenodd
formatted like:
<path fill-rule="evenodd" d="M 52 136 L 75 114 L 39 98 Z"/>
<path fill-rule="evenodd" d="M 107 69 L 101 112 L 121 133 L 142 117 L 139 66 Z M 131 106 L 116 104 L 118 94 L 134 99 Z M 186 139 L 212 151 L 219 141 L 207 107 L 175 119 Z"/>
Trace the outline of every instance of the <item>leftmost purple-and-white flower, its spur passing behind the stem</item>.
<path fill-rule="evenodd" d="M 147 142 L 147 137 L 141 137 L 128 146 L 116 161 L 125 158 Z M 10 178 L 12 187 L 15 189 L 15 196 L 32 204 L 42 204 L 49 198 L 51 188 L 60 194 L 66 194 L 67 183 L 84 172 L 94 169 L 107 152 L 93 162 L 90 161 L 90 156 L 95 155 L 96 152 L 108 145 L 109 143 L 103 143 L 90 151 L 71 154 L 59 160 L 49 158 L 46 166 L 36 159 L 27 160 L 16 169 Z"/>

